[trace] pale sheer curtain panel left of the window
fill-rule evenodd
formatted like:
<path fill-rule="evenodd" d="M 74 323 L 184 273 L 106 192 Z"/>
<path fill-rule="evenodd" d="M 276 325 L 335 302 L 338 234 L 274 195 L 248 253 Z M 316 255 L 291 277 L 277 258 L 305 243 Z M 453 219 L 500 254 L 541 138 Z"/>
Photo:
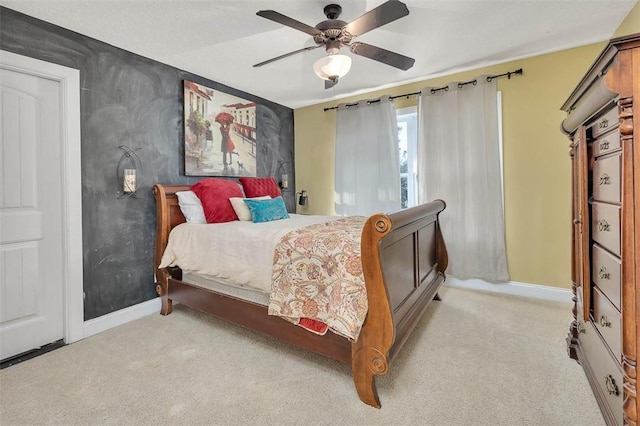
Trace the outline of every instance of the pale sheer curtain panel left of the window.
<path fill-rule="evenodd" d="M 401 207 L 398 123 L 388 98 L 338 105 L 335 210 L 369 216 Z"/>

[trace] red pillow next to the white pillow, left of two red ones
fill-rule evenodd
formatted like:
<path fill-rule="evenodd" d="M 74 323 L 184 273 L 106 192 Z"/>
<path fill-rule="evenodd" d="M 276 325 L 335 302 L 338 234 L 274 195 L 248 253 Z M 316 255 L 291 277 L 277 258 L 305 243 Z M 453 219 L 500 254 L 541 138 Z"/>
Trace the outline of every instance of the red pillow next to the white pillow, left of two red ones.
<path fill-rule="evenodd" d="M 238 220 L 229 201 L 231 197 L 242 197 L 238 183 L 226 179 L 203 179 L 189 188 L 196 193 L 207 223 L 222 223 Z"/>

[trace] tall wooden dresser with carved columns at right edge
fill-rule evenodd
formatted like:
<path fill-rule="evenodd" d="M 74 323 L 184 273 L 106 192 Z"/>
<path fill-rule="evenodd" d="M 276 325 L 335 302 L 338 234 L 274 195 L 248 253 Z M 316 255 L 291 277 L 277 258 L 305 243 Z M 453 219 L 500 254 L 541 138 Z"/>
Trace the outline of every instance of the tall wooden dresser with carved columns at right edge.
<path fill-rule="evenodd" d="M 567 349 L 607 424 L 636 425 L 640 34 L 611 40 L 562 110 L 573 192 L 574 320 Z"/>

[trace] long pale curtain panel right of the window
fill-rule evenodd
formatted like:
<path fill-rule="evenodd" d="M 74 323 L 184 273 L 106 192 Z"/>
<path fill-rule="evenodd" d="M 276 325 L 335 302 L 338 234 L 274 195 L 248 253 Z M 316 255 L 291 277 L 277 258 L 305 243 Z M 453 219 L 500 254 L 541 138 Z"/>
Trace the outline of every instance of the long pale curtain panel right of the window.
<path fill-rule="evenodd" d="M 440 198 L 448 273 L 509 280 L 504 239 L 495 79 L 422 90 L 418 124 L 418 201 Z"/>

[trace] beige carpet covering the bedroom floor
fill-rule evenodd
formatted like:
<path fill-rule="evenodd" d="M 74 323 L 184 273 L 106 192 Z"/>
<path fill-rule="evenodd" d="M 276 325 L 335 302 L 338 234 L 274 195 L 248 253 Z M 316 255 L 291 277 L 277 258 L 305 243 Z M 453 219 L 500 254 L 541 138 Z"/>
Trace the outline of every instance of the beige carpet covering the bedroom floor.
<path fill-rule="evenodd" d="M 2 425 L 602 425 L 570 306 L 443 288 L 382 409 L 348 366 L 176 307 L 0 371 Z"/>

